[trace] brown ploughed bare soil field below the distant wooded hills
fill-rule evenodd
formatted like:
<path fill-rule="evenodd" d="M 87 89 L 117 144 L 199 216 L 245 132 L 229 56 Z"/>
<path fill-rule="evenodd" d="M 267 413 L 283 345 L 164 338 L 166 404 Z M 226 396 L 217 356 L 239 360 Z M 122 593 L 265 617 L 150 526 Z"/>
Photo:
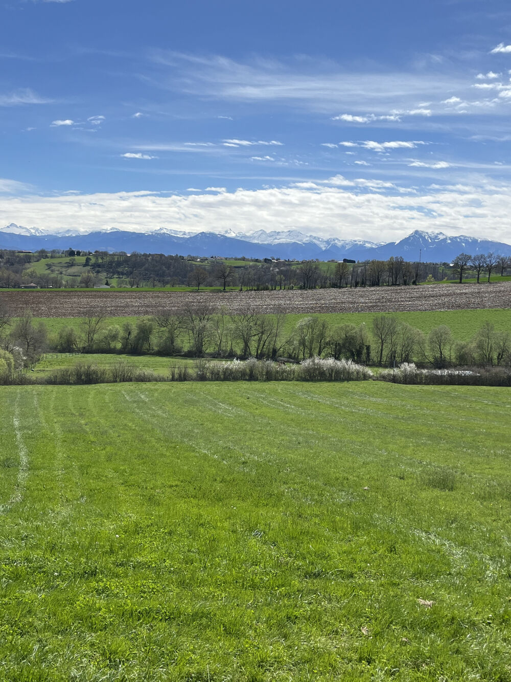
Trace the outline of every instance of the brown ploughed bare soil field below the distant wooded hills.
<path fill-rule="evenodd" d="M 180 312 L 191 304 L 224 306 L 228 312 L 247 308 L 259 312 L 399 312 L 510 308 L 511 282 L 499 284 L 436 284 L 380 288 L 317 289 L 314 291 L 3 291 L 0 301 L 14 315 L 31 310 L 36 317 L 83 317 L 86 314 L 124 317 L 159 310 Z"/>

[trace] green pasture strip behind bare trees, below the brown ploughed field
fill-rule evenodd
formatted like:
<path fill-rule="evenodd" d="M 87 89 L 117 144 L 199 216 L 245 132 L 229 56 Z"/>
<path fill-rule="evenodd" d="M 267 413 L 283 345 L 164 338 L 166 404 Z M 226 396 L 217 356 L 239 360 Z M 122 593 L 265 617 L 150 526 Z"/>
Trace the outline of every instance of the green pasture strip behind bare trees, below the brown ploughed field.
<path fill-rule="evenodd" d="M 221 297 L 212 297 L 212 303 L 221 305 Z M 371 327 L 373 317 L 381 313 L 377 312 L 339 312 L 322 313 L 318 316 L 325 319 L 329 325 L 362 323 Z M 479 329 L 482 324 L 489 321 L 495 325 L 496 329 L 511 329 L 511 308 L 491 308 L 483 310 L 444 310 L 444 311 L 420 311 L 420 312 L 393 312 L 389 315 L 397 317 L 399 320 L 422 329 L 428 333 L 433 327 L 447 325 L 452 329 L 454 338 L 459 341 L 468 340 Z M 285 332 L 291 333 L 301 318 L 310 317 L 309 314 L 288 313 L 285 316 Z M 62 327 L 80 327 L 81 320 L 76 317 L 69 318 L 40 318 L 48 327 L 50 333 L 55 333 Z M 136 317 L 109 317 L 104 321 L 105 326 L 123 325 L 129 321 L 136 323 Z"/>

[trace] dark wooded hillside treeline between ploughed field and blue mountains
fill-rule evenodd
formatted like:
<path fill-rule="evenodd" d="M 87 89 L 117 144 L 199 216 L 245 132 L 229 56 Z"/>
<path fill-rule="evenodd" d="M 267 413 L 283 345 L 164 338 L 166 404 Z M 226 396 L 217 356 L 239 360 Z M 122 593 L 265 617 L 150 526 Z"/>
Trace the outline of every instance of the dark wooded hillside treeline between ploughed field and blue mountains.
<path fill-rule="evenodd" d="M 34 262 L 50 257 L 68 258 L 67 267 L 80 266 L 80 274 L 69 278 L 56 271 L 48 261 L 46 271 L 31 268 Z M 80 257 L 80 263 L 76 258 Z M 0 250 L 0 288 L 15 288 L 36 284 L 43 288 L 64 286 L 239 286 L 256 291 L 286 288 L 330 288 L 345 286 L 407 286 L 420 282 L 443 280 L 447 276 L 462 281 L 473 273 L 480 281 L 483 275 L 506 275 L 511 270 L 511 258 L 498 254 L 460 254 L 449 263 L 412 263 L 401 256 L 387 261 L 362 263 L 318 261 L 245 260 L 243 265 L 231 265 L 221 258 L 164 256 L 162 254 L 114 253 L 105 251 L 46 252 L 35 254 Z"/>

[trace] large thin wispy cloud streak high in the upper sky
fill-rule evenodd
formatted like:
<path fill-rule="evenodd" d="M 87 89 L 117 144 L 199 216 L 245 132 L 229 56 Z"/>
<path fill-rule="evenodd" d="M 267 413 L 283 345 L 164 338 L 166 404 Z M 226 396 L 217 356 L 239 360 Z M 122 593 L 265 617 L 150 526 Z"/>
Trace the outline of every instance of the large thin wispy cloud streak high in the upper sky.
<path fill-rule="evenodd" d="M 422 108 L 418 103 L 446 99 L 452 91 L 467 87 L 465 74 L 455 74 L 452 70 L 442 72 L 438 65 L 430 72 L 357 72 L 318 59 L 255 58 L 243 63 L 219 55 L 207 57 L 165 50 L 153 50 L 151 59 L 158 72 L 147 78 L 156 87 L 216 100 L 281 102 L 330 116 L 332 109 L 349 107 L 355 113 L 339 116 L 361 119 L 370 118 L 370 115 L 358 114 L 363 111 L 375 117 L 399 116 L 392 112 L 397 106 L 400 111 L 417 115 Z"/>

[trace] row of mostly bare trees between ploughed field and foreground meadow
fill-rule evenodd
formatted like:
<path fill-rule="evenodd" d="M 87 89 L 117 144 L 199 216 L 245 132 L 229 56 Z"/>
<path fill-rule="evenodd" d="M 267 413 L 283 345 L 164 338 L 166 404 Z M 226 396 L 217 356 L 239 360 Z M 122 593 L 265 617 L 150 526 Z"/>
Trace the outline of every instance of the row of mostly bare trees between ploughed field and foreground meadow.
<path fill-rule="evenodd" d="M 0 307 L 0 348 L 16 366 L 33 364 L 45 351 L 131 353 L 183 357 L 287 359 L 332 357 L 358 364 L 393 367 L 511 366 L 511 333 L 486 322 L 471 339 L 455 340 L 441 325 L 423 333 L 389 314 L 370 325 L 330 325 L 324 316 L 305 316 L 290 328 L 285 314 L 262 314 L 247 307 L 238 314 L 207 305 L 181 314 L 161 311 L 121 325 L 89 314 L 74 325 L 48 333 L 30 312 L 12 318 Z"/>

